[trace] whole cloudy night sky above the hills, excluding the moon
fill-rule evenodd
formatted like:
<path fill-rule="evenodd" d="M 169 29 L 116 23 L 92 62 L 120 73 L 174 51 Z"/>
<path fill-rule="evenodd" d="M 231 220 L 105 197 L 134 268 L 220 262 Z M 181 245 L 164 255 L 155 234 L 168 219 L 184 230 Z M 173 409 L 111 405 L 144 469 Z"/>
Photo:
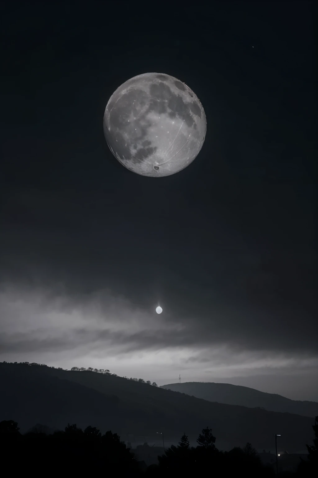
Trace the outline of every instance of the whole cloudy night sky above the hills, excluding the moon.
<path fill-rule="evenodd" d="M 168 5 L 1 7 L 0 359 L 318 401 L 313 3 Z M 103 135 L 147 72 L 207 118 L 164 178 Z"/>

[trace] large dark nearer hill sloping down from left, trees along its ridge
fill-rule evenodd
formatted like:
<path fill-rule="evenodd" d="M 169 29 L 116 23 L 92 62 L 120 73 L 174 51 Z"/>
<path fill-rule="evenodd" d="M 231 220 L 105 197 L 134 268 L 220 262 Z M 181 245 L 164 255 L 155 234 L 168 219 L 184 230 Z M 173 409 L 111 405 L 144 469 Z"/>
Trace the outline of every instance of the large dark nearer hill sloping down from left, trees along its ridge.
<path fill-rule="evenodd" d="M 122 377 L 92 371 L 65 371 L 40 365 L 0 364 L 0 421 L 15 420 L 21 432 L 34 424 L 62 430 L 65 423 L 96 424 L 118 435 L 164 432 L 166 445 L 186 430 L 195 441 L 202 423 L 213 428 L 219 449 L 252 442 L 257 449 L 279 446 L 290 453 L 311 440 L 312 419 L 212 403 Z M 157 437 L 156 437 L 157 438 Z"/>

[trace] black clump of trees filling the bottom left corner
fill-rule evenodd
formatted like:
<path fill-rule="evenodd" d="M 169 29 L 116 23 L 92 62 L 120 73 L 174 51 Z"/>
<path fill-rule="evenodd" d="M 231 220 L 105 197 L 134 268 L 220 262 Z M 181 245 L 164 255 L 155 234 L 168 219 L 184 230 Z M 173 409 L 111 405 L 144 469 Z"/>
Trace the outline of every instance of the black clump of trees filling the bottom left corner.
<path fill-rule="evenodd" d="M 88 426 L 83 433 L 76 424 L 68 424 L 65 432 L 51 435 L 21 435 L 17 430 L 19 428 L 13 420 L 0 423 L 1 470 L 7 464 L 5 460 L 9 460 L 9 474 L 12 476 L 15 472 L 22 474 L 32 466 L 40 469 L 49 466 L 53 476 L 61 470 L 67 476 L 105 475 L 107 470 L 119 477 L 140 476 L 141 464 L 120 441 L 120 436 L 111 431 L 102 436 L 97 428 Z"/>

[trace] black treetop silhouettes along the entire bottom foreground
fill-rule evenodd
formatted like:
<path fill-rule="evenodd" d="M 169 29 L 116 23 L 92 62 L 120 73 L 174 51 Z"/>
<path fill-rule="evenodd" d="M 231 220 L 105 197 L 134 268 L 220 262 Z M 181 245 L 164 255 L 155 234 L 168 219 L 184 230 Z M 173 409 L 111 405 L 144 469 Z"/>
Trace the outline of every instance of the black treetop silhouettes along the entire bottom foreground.
<path fill-rule="evenodd" d="M 317 476 L 318 416 L 313 429 L 314 445 L 307 445 L 309 459 L 298 467 L 296 475 L 300 477 Z M 60 475 L 100 472 L 121 477 L 192 477 L 209 470 L 215 477 L 270 477 L 275 474 L 272 467 L 262 464 L 250 443 L 243 449 L 235 447 L 228 452 L 219 451 L 208 426 L 196 442 L 196 447 L 190 447 L 184 433 L 178 446 L 171 445 L 162 456 L 158 456 L 158 465 L 147 467 L 111 431 L 102 435 L 92 426 L 82 431 L 76 424 L 68 424 L 64 432 L 46 435 L 34 430 L 21 435 L 17 422 L 0 422 L 2 466 L 6 463 L 6 467 L 12 467 L 15 473 L 36 470 L 37 473 Z M 295 476 L 293 473 L 283 474 L 289 475 Z"/>

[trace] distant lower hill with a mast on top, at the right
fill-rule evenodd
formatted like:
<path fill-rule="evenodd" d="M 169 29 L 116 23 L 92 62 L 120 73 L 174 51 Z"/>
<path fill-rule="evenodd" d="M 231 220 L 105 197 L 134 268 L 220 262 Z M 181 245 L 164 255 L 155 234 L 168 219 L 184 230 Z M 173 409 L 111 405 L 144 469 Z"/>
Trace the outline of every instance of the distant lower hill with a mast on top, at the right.
<path fill-rule="evenodd" d="M 315 417 L 318 413 L 317 402 L 290 400 L 276 393 L 266 393 L 241 385 L 231 385 L 230 383 L 169 383 L 161 385 L 161 388 L 194 395 L 209 402 L 241 405 L 249 408 L 263 407 L 271 412 L 288 412 L 308 417 Z"/>

